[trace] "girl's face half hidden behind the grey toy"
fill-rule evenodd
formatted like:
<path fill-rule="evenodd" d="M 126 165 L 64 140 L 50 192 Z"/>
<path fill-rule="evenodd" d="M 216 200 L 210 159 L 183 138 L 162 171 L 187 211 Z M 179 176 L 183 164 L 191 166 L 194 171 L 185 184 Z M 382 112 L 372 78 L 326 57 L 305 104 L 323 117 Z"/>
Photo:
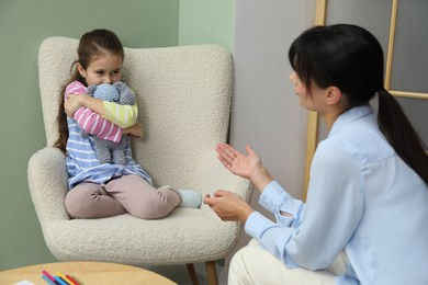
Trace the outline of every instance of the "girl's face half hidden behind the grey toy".
<path fill-rule="evenodd" d="M 77 67 L 88 86 L 99 86 L 120 81 L 122 79 L 122 64 L 120 55 L 103 53 L 94 57 L 87 69 L 83 69 L 79 64 Z"/>

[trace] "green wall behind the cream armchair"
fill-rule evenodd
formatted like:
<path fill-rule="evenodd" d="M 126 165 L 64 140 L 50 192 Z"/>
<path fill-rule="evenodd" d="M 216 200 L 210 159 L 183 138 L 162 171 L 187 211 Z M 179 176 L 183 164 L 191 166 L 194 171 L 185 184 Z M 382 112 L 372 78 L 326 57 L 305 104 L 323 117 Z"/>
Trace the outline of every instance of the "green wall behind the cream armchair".
<path fill-rule="evenodd" d="M 200 1 L 0 0 L 0 270 L 55 261 L 26 179 L 30 157 L 46 144 L 37 81 L 42 41 L 105 27 L 126 47 L 219 44 L 232 50 L 235 1 Z"/>

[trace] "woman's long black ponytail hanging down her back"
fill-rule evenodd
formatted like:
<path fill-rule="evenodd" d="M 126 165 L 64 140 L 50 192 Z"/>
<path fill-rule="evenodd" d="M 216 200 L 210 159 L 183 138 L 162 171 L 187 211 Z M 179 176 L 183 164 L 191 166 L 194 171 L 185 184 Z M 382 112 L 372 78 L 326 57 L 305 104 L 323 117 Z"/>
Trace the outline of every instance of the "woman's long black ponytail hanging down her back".
<path fill-rule="evenodd" d="M 378 122 L 395 152 L 428 184 L 428 156 L 396 99 L 385 89 L 378 92 Z"/>

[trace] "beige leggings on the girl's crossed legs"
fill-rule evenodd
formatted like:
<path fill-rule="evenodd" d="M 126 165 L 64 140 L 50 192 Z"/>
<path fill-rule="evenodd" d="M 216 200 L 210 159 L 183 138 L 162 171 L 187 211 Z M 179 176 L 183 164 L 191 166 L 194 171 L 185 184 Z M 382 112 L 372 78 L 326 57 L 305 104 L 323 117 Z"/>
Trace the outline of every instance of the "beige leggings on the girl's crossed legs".
<path fill-rule="evenodd" d="M 167 216 L 181 203 L 176 190 L 155 189 L 138 175 L 124 175 L 106 184 L 80 183 L 66 196 L 72 218 L 105 218 L 128 213 L 143 219 Z"/>

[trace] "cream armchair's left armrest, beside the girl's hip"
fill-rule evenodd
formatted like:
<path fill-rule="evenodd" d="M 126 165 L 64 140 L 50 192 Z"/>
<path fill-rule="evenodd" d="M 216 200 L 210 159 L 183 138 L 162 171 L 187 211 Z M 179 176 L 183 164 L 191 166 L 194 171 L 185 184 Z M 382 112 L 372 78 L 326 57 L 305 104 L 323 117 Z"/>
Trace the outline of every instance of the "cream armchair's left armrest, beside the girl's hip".
<path fill-rule="evenodd" d="M 38 150 L 30 158 L 27 175 L 31 197 L 41 224 L 70 219 L 64 203 L 68 174 L 63 152 L 54 147 Z"/>

